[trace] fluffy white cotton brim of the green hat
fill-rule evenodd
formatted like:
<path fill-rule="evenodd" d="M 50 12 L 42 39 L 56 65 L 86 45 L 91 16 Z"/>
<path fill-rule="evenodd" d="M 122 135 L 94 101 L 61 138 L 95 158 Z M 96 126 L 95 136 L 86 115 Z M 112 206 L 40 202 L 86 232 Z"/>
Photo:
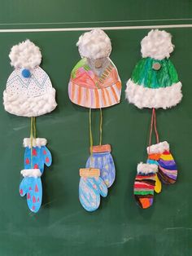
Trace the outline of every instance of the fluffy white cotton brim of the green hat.
<path fill-rule="evenodd" d="M 172 86 L 152 89 L 139 86 L 129 79 L 125 97 L 137 108 L 172 108 L 182 99 L 181 86 L 181 82 L 177 82 Z"/>

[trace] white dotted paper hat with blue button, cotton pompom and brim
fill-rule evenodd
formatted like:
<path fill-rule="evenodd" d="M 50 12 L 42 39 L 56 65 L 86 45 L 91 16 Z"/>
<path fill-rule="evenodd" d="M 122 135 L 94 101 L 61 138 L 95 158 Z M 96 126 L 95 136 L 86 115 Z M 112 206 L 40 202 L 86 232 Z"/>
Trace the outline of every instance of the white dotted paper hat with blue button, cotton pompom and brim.
<path fill-rule="evenodd" d="M 15 70 L 3 92 L 5 110 L 22 117 L 37 117 L 53 111 L 57 104 L 50 77 L 39 67 L 41 51 L 26 40 L 11 48 L 9 55 Z"/>

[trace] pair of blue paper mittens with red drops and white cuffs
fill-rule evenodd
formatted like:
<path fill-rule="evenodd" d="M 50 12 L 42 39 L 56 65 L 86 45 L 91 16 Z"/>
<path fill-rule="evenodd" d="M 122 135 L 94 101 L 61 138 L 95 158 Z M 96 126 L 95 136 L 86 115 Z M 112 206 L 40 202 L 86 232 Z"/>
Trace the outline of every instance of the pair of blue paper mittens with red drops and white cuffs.
<path fill-rule="evenodd" d="M 31 150 L 31 139 L 24 139 L 24 170 L 21 174 L 24 179 L 20 183 L 20 196 L 27 196 L 28 208 L 37 213 L 41 207 L 42 186 L 41 174 L 44 171 L 44 165 L 50 166 L 52 157 L 48 148 L 46 148 L 46 139 L 33 139 L 33 148 Z"/>

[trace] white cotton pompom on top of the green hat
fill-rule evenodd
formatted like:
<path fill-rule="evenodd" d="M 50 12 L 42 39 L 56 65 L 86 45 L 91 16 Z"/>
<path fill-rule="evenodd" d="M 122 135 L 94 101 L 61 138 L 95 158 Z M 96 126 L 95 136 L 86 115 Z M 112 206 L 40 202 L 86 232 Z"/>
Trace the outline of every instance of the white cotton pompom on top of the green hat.
<path fill-rule="evenodd" d="M 174 50 L 172 45 L 172 35 L 166 31 L 152 29 L 148 35 L 142 39 L 142 57 L 151 57 L 155 60 L 169 58 L 170 53 Z"/>

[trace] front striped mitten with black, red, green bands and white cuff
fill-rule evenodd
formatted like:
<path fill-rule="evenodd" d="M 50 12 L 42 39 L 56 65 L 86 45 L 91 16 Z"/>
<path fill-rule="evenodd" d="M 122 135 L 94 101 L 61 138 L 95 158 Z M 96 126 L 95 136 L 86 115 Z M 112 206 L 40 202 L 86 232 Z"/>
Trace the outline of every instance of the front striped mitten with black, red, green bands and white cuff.
<path fill-rule="evenodd" d="M 134 182 L 134 196 L 142 209 L 149 208 L 153 204 L 155 175 L 158 167 L 154 164 L 137 165 L 137 176 Z"/>

